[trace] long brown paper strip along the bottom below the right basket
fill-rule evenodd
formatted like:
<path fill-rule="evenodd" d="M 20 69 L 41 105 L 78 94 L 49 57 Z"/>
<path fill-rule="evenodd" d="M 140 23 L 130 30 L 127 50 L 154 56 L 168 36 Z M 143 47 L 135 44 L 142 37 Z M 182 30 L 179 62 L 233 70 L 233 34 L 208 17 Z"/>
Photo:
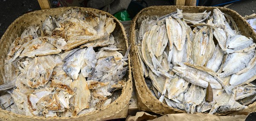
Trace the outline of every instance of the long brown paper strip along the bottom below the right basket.
<path fill-rule="evenodd" d="M 163 115 L 150 121 L 244 121 L 249 114 L 249 112 L 239 112 L 232 114 L 233 116 L 218 116 L 203 113 L 180 113 Z"/>

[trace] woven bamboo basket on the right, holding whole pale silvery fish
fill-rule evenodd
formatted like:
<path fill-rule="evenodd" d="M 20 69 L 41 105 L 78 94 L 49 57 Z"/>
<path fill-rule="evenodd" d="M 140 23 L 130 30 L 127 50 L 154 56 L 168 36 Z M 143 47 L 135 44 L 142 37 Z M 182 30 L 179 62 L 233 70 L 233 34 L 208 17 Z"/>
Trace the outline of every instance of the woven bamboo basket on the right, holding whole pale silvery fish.
<path fill-rule="evenodd" d="M 256 33 L 253 32 L 252 27 L 239 15 L 237 12 L 227 9 L 227 8 L 222 8 L 222 7 L 203 7 L 203 6 L 150 6 L 148 8 L 145 8 L 141 10 L 133 19 L 131 23 L 131 57 L 132 57 L 132 66 L 133 66 L 133 75 L 134 75 L 134 81 L 135 81 L 135 86 L 137 90 L 137 103 L 138 107 L 143 110 L 143 111 L 152 111 L 161 115 L 166 115 L 166 114 L 173 114 L 173 113 L 186 113 L 183 110 L 180 109 L 175 109 L 172 107 L 169 107 L 166 104 L 161 103 L 157 98 L 155 98 L 152 94 L 151 91 L 148 89 L 148 86 L 145 83 L 145 78 L 143 76 L 143 69 L 140 64 L 140 60 L 138 58 L 138 53 L 137 53 L 137 45 L 135 43 L 135 29 L 138 28 L 137 26 L 137 20 L 140 17 L 148 17 L 152 15 L 157 15 L 157 16 L 163 16 L 172 12 L 175 12 L 177 9 L 182 9 L 183 12 L 188 12 L 188 13 L 199 13 L 199 12 L 204 12 L 207 10 L 213 11 L 213 9 L 218 8 L 224 13 L 230 14 L 235 22 L 237 23 L 237 26 L 239 27 L 239 30 L 241 31 L 242 35 L 245 35 L 247 37 L 253 38 L 254 42 L 256 42 Z M 252 78 L 252 80 L 256 79 L 256 75 Z M 253 104 L 250 104 L 247 109 L 243 111 L 248 111 L 248 112 L 256 112 L 256 102 Z M 216 115 L 228 115 L 233 112 L 225 112 L 225 113 L 219 113 Z"/>

